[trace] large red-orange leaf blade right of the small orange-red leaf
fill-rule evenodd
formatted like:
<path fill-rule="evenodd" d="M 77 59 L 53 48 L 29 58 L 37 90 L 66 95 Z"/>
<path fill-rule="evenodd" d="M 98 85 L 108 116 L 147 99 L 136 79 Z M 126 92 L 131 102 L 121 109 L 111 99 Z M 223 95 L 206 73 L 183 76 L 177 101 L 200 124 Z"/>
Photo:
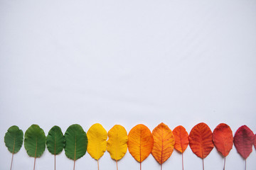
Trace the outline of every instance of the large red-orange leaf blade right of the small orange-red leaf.
<path fill-rule="evenodd" d="M 202 159 L 206 158 L 214 147 L 213 133 L 206 123 L 198 123 L 195 125 L 188 139 L 192 152 Z"/>

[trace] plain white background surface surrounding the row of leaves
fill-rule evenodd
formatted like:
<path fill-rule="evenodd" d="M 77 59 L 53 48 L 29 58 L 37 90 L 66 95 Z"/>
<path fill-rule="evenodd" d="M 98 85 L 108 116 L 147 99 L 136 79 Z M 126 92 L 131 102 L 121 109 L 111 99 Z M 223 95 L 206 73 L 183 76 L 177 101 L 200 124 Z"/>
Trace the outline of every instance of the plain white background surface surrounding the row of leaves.
<path fill-rule="evenodd" d="M 11 125 L 25 132 L 38 124 L 48 134 L 78 123 L 106 130 L 161 122 L 188 132 L 197 123 L 219 123 L 233 133 L 247 125 L 256 132 L 255 0 L 0 0 L 0 169 L 11 154 L 4 135 Z M 247 159 L 255 170 L 256 152 Z M 185 169 L 202 169 L 188 147 Z M 33 169 L 24 147 L 13 169 Z M 46 150 L 36 169 L 53 169 Z M 73 169 L 62 152 L 57 169 Z M 97 169 L 85 154 L 76 169 Z M 100 169 L 115 169 L 105 152 Z M 120 170 L 139 169 L 127 152 Z M 151 155 L 142 169 L 159 169 Z M 181 169 L 174 151 L 163 169 Z M 205 169 L 223 169 L 216 149 Z M 227 170 L 244 169 L 235 147 Z"/>

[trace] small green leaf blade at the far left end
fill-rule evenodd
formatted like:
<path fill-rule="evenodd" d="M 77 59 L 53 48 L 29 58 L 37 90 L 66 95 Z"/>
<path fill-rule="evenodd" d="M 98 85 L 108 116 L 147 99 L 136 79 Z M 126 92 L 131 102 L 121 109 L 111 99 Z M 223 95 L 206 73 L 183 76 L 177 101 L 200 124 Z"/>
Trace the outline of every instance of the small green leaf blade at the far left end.
<path fill-rule="evenodd" d="M 11 126 L 4 136 L 4 142 L 9 152 L 16 154 L 23 144 L 23 131 L 18 126 Z"/>

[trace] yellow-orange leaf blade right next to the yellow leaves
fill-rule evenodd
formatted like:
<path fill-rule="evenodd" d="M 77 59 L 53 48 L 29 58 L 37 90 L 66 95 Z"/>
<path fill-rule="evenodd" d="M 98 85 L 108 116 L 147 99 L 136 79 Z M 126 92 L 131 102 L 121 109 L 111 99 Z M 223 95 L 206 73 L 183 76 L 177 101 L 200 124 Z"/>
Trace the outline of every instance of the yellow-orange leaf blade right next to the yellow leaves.
<path fill-rule="evenodd" d="M 137 162 L 143 162 L 152 151 L 154 145 L 153 135 L 145 125 L 136 125 L 129 131 L 127 145 L 132 157 Z"/>

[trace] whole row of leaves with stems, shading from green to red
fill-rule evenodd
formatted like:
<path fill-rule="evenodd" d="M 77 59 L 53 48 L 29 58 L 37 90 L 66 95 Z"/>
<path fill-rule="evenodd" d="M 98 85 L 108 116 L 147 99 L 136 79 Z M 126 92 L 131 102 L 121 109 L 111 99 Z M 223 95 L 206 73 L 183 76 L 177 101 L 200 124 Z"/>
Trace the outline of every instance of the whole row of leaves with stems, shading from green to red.
<path fill-rule="evenodd" d="M 12 166 L 14 154 L 23 145 L 23 131 L 15 125 L 11 126 L 6 132 L 4 142 L 9 152 L 12 153 Z M 256 149 L 256 137 L 250 128 L 246 125 L 241 126 L 233 137 L 231 128 L 225 123 L 220 123 L 213 132 L 206 123 L 198 123 L 192 128 L 189 135 L 181 125 L 172 131 L 164 123 L 160 123 L 152 132 L 145 125 L 139 124 L 134 126 L 128 135 L 122 125 L 114 125 L 107 132 L 102 125 L 95 123 L 86 133 L 80 125 L 75 124 L 70 125 L 65 135 L 60 127 L 54 126 L 48 132 L 47 137 L 38 125 L 31 125 L 25 132 L 24 140 L 28 156 L 35 158 L 34 169 L 36 158 L 41 157 L 46 146 L 54 156 L 60 154 L 64 149 L 66 157 L 74 161 L 73 169 L 75 169 L 75 161 L 84 156 L 86 151 L 97 160 L 99 169 L 99 159 L 106 150 L 117 162 L 124 157 L 128 147 L 129 153 L 140 163 L 140 169 L 142 169 L 142 162 L 149 154 L 153 155 L 162 168 L 162 164 L 171 157 L 174 148 L 182 154 L 183 168 L 183 152 L 188 145 L 192 152 L 201 159 L 206 158 L 215 146 L 223 155 L 225 162 L 225 157 L 233 148 L 233 143 L 243 159 L 249 157 L 252 145 Z"/>

